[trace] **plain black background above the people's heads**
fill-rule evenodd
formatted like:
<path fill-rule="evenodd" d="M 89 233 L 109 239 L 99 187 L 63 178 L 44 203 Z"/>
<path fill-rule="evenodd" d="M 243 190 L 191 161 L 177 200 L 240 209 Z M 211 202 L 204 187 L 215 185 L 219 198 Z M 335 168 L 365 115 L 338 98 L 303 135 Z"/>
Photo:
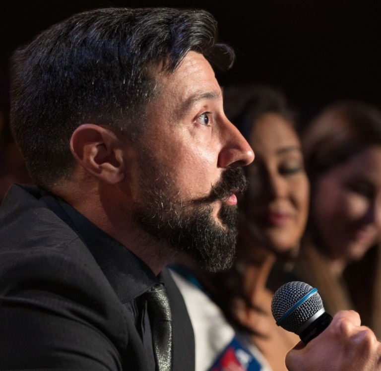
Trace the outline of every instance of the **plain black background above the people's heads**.
<path fill-rule="evenodd" d="M 246 4 L 247 3 L 247 4 Z M 381 12 L 378 1 L 337 0 L 0 0 L 0 111 L 7 118 L 8 58 L 18 45 L 69 15 L 106 6 L 176 6 L 209 10 L 219 36 L 237 53 L 221 76 L 274 85 L 301 124 L 337 99 L 381 108 Z"/>

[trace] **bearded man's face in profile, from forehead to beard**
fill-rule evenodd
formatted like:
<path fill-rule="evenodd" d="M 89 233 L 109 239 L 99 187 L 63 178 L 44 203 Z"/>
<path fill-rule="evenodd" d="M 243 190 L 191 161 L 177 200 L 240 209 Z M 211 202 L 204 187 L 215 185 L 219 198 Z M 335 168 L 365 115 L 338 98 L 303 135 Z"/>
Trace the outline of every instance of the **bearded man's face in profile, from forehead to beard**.
<path fill-rule="evenodd" d="M 135 221 L 159 241 L 185 251 L 202 267 L 230 266 L 240 166 L 252 149 L 223 112 L 222 93 L 205 58 L 190 52 L 148 109 L 138 143 Z"/>

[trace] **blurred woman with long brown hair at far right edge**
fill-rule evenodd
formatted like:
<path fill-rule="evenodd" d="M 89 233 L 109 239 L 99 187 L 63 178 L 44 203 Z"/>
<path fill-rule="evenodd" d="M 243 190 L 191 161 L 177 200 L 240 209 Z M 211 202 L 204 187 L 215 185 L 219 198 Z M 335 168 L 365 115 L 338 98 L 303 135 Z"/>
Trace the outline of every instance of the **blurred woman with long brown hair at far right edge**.
<path fill-rule="evenodd" d="M 311 210 L 292 273 L 318 288 L 330 314 L 356 309 L 381 338 L 381 112 L 337 102 L 302 139 Z"/>

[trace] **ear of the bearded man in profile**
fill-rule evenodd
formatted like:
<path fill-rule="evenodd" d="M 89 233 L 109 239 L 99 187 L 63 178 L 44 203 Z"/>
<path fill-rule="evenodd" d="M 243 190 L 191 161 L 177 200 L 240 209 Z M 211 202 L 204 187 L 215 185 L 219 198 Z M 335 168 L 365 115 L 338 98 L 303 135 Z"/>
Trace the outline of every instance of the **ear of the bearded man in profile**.
<path fill-rule="evenodd" d="M 121 140 L 112 129 L 82 124 L 71 135 L 70 150 L 89 174 L 109 184 L 125 177 Z"/>

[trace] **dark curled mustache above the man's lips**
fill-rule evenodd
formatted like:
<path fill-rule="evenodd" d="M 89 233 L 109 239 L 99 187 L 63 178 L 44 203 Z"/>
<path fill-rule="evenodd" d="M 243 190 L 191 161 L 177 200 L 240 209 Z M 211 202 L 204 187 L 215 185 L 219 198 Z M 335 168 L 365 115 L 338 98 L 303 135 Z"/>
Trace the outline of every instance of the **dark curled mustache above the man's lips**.
<path fill-rule="evenodd" d="M 248 184 L 242 168 L 228 168 L 222 173 L 221 179 L 212 186 L 209 195 L 197 201 L 214 202 L 228 198 L 232 193 L 243 193 L 248 188 Z"/>

